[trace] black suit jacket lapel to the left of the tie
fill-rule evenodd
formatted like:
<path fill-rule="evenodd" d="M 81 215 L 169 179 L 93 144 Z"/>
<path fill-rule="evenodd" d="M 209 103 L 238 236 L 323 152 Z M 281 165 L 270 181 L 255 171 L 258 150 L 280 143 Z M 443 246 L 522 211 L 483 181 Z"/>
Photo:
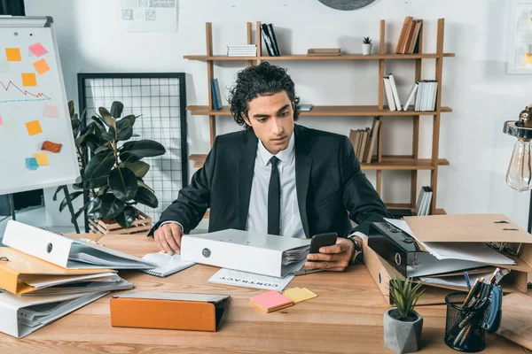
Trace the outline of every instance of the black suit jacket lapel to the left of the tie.
<path fill-rule="evenodd" d="M 253 181 L 254 160 L 257 151 L 257 137 L 250 133 L 242 150 L 238 165 L 238 212 L 239 229 L 246 229 L 247 212 L 249 211 L 249 198 L 251 197 L 251 184 Z"/>

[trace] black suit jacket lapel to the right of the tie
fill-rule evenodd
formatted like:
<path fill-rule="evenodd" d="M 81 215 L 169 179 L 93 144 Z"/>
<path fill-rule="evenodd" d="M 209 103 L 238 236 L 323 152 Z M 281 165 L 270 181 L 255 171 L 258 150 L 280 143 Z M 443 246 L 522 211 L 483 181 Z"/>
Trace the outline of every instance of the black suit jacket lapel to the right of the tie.
<path fill-rule="evenodd" d="M 312 158 L 307 154 L 310 150 L 308 136 L 304 128 L 294 127 L 295 136 L 295 189 L 297 192 L 297 204 L 301 214 L 301 224 L 307 237 L 309 235 L 309 218 L 307 216 L 307 191 L 309 190 L 310 170 Z"/>

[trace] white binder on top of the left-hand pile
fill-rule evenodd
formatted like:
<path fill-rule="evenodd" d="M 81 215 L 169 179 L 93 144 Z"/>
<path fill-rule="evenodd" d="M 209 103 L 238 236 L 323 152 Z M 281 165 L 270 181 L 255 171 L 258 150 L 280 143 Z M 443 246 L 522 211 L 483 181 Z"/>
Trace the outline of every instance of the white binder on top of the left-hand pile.
<path fill-rule="evenodd" d="M 67 269 L 152 269 L 155 264 L 96 243 L 9 220 L 4 244 Z"/>

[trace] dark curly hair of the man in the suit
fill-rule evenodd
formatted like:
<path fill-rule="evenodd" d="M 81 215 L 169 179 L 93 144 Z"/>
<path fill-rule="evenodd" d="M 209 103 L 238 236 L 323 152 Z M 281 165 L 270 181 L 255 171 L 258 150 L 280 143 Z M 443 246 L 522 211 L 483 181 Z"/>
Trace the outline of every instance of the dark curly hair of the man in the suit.
<path fill-rule="evenodd" d="M 271 96 L 281 91 L 286 91 L 293 103 L 293 120 L 297 120 L 300 98 L 295 96 L 293 81 L 286 73 L 286 69 L 270 65 L 266 61 L 260 65 L 246 67 L 237 73 L 237 82 L 229 92 L 229 104 L 233 118 L 239 126 L 246 127 L 247 131 L 253 131 L 242 116 L 242 113 L 247 116 L 249 101 L 258 96 Z"/>

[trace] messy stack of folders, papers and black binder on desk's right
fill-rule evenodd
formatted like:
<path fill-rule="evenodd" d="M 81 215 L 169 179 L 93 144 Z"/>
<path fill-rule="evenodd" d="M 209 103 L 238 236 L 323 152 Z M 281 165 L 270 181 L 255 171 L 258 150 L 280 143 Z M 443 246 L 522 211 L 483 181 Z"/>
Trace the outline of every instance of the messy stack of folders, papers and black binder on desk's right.
<path fill-rule="evenodd" d="M 405 217 L 372 223 L 364 263 L 382 294 L 396 273 L 424 284 L 419 304 L 444 304 L 452 291 L 487 281 L 497 268 L 505 293 L 527 291 L 532 235 L 500 214 Z M 506 275 L 507 274 L 507 275 Z"/>

